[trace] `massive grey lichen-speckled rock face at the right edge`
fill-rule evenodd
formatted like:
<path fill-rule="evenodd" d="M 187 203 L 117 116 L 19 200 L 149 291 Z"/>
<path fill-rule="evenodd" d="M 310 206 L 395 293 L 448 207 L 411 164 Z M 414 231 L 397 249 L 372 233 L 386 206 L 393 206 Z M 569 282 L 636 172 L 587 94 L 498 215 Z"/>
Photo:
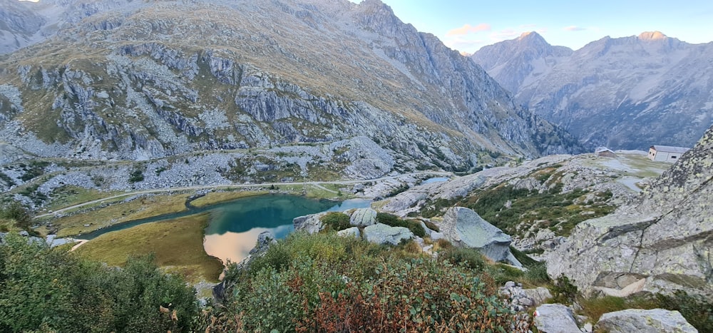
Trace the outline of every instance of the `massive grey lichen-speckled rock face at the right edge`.
<path fill-rule="evenodd" d="M 578 225 L 548 257 L 550 275 L 585 291 L 713 297 L 713 127 L 635 204 Z"/>

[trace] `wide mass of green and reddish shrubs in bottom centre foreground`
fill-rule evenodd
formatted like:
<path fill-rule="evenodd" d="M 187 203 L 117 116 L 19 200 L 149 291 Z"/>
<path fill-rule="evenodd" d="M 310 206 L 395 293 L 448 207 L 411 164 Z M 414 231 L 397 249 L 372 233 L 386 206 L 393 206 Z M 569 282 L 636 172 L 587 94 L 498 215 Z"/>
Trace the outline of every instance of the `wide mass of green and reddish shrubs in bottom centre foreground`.
<path fill-rule="evenodd" d="M 515 320 L 477 270 L 334 234 L 290 235 L 225 280 L 227 299 L 202 321 L 215 330 L 505 332 Z"/>

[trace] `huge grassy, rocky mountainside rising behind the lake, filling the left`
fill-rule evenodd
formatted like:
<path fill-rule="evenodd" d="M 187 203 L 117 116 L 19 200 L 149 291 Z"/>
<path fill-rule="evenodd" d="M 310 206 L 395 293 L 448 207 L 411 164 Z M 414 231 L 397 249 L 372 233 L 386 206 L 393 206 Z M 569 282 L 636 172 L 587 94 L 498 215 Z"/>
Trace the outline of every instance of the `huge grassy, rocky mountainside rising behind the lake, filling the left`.
<path fill-rule="evenodd" d="M 36 155 L 148 160 L 364 137 L 406 169 L 466 170 L 478 150 L 576 149 L 380 1 L 49 4 L 63 10 L 57 34 L 0 61 L 0 141 Z"/>

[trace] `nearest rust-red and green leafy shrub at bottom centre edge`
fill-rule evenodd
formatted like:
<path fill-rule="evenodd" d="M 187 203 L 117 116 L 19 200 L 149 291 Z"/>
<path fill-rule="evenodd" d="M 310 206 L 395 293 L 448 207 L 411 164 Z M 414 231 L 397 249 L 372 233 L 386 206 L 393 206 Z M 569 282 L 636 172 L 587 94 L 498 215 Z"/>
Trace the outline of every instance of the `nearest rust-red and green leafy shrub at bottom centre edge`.
<path fill-rule="evenodd" d="M 483 294 L 473 271 L 433 260 L 387 260 L 368 287 L 319 294 L 305 332 L 488 332 L 510 328 L 514 314 L 498 297 Z"/>

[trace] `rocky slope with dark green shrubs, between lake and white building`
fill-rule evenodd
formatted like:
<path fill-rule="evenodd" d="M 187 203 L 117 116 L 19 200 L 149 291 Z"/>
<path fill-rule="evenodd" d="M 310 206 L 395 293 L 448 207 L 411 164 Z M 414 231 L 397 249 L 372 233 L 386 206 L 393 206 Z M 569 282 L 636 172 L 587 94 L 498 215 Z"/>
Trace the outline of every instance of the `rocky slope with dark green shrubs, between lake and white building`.
<path fill-rule="evenodd" d="M 431 220 L 438 220 L 453 205 L 473 208 L 481 216 L 488 210 L 491 215 L 486 220 L 512 235 L 513 246 L 537 257 L 565 242 L 578 222 L 630 203 L 668 167 L 637 151 L 618 151 L 617 158 L 550 155 L 448 182 L 416 185 L 384 200 L 380 207 L 399 216 Z M 481 205 L 481 198 L 493 204 Z"/>

